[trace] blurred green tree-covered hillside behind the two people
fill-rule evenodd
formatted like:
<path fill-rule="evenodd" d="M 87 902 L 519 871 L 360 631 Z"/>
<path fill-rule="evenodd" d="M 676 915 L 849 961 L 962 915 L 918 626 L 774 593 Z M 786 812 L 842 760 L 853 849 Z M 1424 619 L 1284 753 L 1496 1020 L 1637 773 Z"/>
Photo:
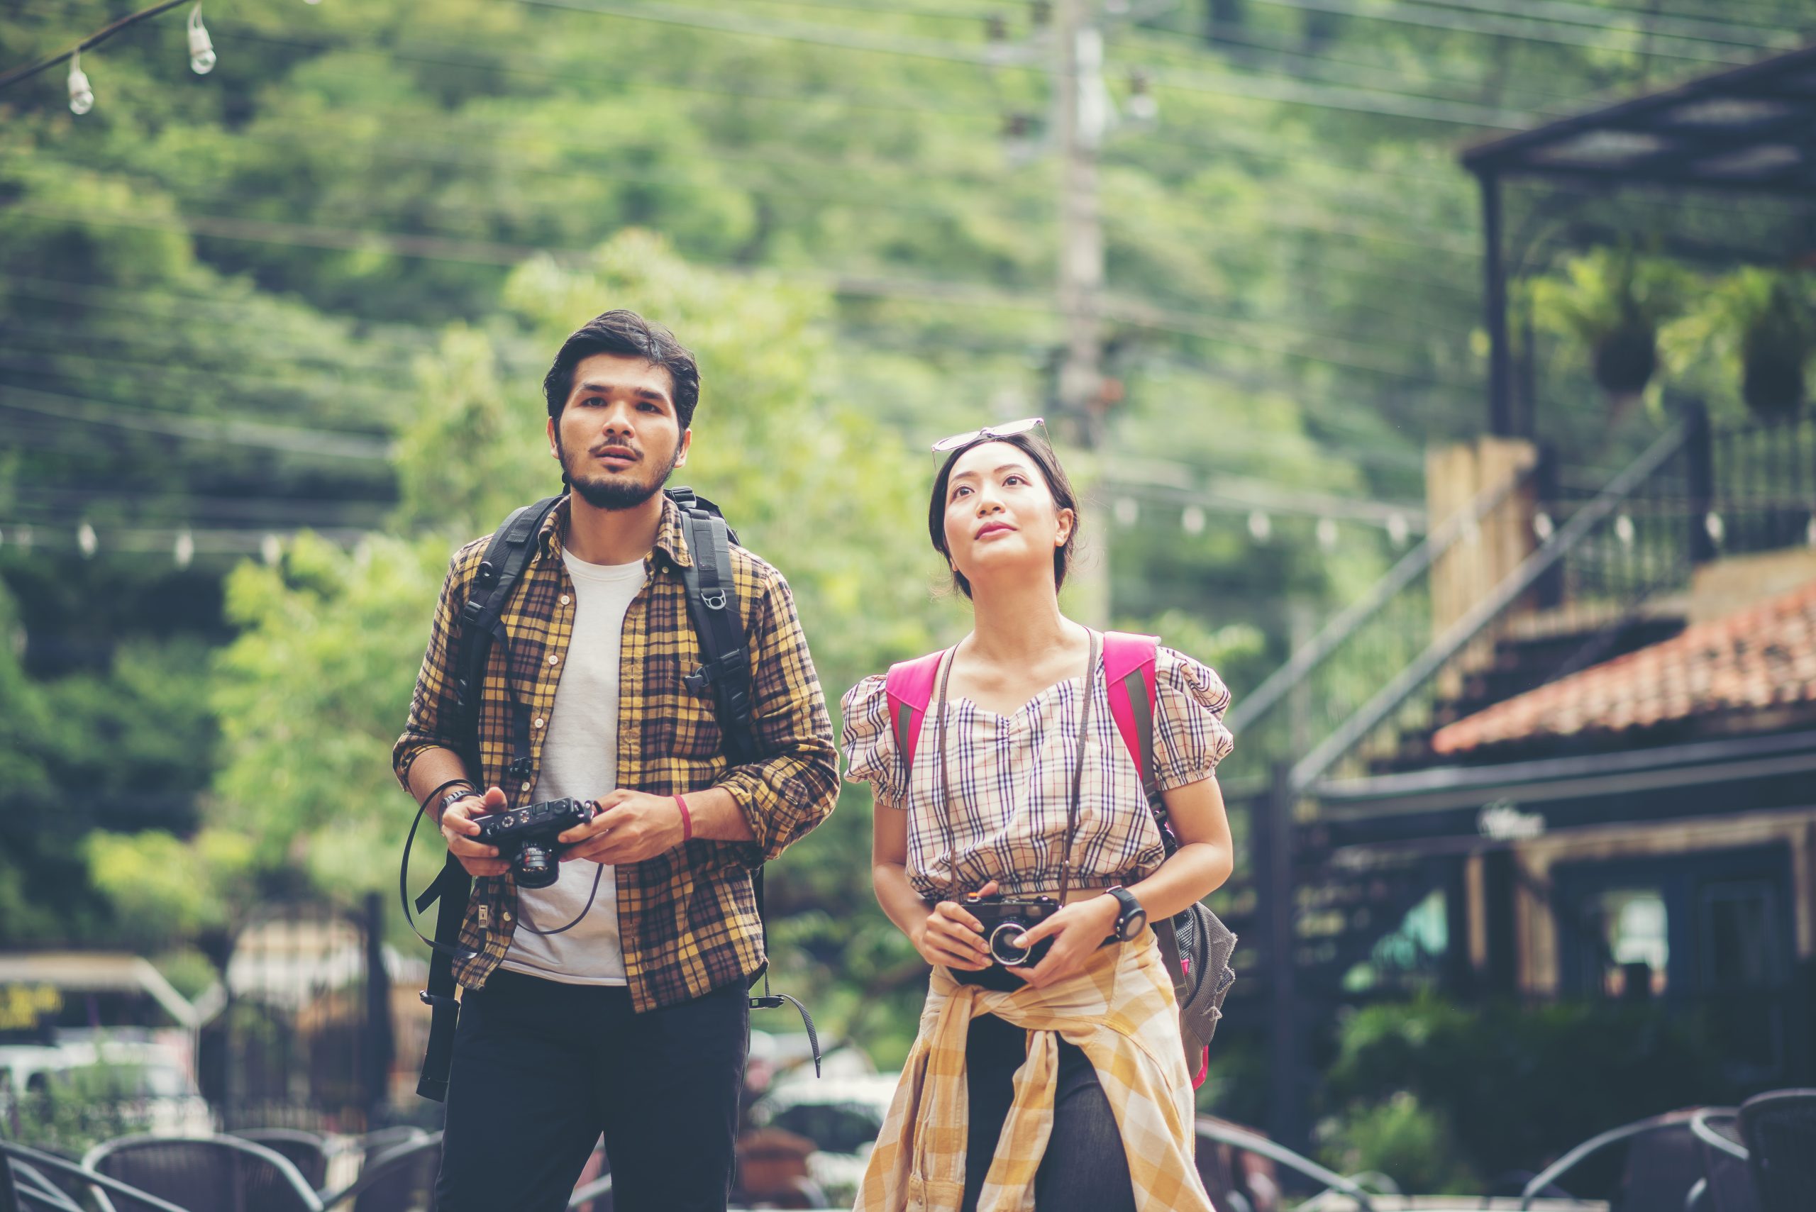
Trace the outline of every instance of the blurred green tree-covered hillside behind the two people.
<path fill-rule="evenodd" d="M 619 9 L 211 4 L 209 76 L 165 16 L 84 58 L 82 118 L 60 71 L 0 94 L 0 811 L 24 822 L 0 943 L 194 942 L 249 898 L 387 884 L 409 816 L 387 755 L 447 553 L 556 486 L 539 377 L 607 307 L 699 352 L 679 479 L 788 575 L 830 699 L 962 633 L 932 591 L 923 452 L 1051 412 L 1059 172 L 1001 138 L 1051 82 L 981 65 L 970 0 Z M 5 5 L 0 62 L 122 11 Z M 1102 152 L 1120 397 L 1081 537 L 1117 622 L 1240 697 L 1288 651 L 1282 602 L 1327 617 L 1398 555 L 1351 519 L 1320 541 L 1308 494 L 1416 517 L 1426 443 L 1480 428 L 1453 145 L 1665 60 L 1240 0 L 1108 45 L 1111 100 L 1133 112 L 1151 67 L 1162 111 Z M 1800 216 L 1743 201 L 1507 207 L 1536 232 L 1525 272 L 1609 232 L 1698 272 L 1801 247 Z M 1609 430 L 1542 341 L 1545 437 L 1620 464 L 1658 417 Z M 265 528 L 314 533 L 247 561 Z M 863 787 L 770 902 L 834 1031 L 904 1043 L 923 976 L 873 907 Z"/>

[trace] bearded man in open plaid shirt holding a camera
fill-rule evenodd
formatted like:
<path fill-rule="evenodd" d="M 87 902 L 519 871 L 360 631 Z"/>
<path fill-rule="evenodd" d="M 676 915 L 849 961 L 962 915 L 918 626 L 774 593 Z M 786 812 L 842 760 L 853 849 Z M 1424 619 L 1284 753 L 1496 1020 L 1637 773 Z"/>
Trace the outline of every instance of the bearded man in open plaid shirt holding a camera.
<path fill-rule="evenodd" d="M 503 611 L 478 709 L 483 769 L 458 735 L 459 608 L 487 548 L 456 552 L 392 760 L 474 876 L 436 1207 L 567 1205 L 605 1136 L 614 1207 L 725 1208 L 765 963 L 752 871 L 832 811 L 832 724 L 783 577 L 732 548 L 761 757 L 730 766 L 661 488 L 686 461 L 699 368 L 674 334 L 614 310 L 567 339 L 543 381 L 570 492 Z M 514 711 L 530 771 L 507 778 Z M 469 782 L 470 780 L 470 782 Z M 449 784 L 445 791 L 439 791 Z M 485 813 L 574 797 L 559 880 L 519 889 Z M 572 924 L 572 925 L 568 925 Z M 527 927 L 527 929 L 519 929 Z M 567 929 L 563 929 L 567 927 Z"/>

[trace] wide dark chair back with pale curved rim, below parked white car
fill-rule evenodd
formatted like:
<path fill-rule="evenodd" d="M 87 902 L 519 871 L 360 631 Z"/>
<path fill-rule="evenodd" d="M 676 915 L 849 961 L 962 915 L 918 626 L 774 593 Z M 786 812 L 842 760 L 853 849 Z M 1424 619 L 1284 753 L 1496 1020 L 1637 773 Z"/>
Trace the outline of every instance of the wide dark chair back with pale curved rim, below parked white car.
<path fill-rule="evenodd" d="M 321 1199 L 283 1154 L 238 1136 L 127 1136 L 91 1148 L 82 1167 L 205 1212 L 321 1212 Z M 102 1212 L 145 1207 L 96 1201 Z"/>

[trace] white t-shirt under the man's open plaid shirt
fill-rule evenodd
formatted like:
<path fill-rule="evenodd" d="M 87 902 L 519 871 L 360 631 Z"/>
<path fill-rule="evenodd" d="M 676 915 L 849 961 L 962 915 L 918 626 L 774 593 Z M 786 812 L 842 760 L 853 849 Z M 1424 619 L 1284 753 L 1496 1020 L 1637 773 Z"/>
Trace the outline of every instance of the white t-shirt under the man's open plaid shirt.
<path fill-rule="evenodd" d="M 548 711 L 543 764 L 532 802 L 597 800 L 617 787 L 617 659 L 625 611 L 643 590 L 643 561 L 588 564 L 563 552 L 574 582 L 574 640 L 568 644 L 556 706 Z M 518 929 L 503 967 L 567 985 L 623 985 L 625 951 L 617 938 L 617 875 L 587 858 L 559 864 L 561 878 L 541 889 L 518 889 Z M 599 880 L 592 894 L 594 876 Z M 574 922 L 561 934 L 536 934 Z"/>

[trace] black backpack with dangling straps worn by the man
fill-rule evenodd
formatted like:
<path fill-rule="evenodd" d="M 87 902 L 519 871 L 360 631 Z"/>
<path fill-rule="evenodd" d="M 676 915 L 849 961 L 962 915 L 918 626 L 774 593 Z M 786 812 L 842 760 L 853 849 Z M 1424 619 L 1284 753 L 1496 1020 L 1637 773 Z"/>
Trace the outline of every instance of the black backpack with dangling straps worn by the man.
<path fill-rule="evenodd" d="M 726 526 L 719 506 L 705 497 L 694 495 L 690 488 L 668 488 L 665 495 L 681 510 L 681 524 L 686 532 L 686 544 L 692 566 L 681 568 L 686 582 L 688 619 L 694 622 L 694 635 L 699 639 L 705 664 L 683 680 L 688 689 L 701 693 L 712 689 L 714 715 L 725 737 L 725 755 L 732 766 L 752 762 L 761 755 L 755 729 L 750 722 L 750 651 L 745 646 L 745 615 L 737 601 L 732 581 L 732 544 L 737 532 Z M 518 588 L 523 568 L 536 550 L 536 537 L 543 523 L 561 497 L 545 497 L 534 504 L 519 506 L 492 533 L 485 548 L 485 557 L 474 573 L 467 604 L 459 611 L 459 639 L 454 648 L 454 691 L 459 704 L 456 731 L 469 738 L 463 753 L 469 769 L 479 769 L 479 693 L 485 686 L 485 662 L 492 651 L 492 642 L 508 642 L 505 635 L 505 604 Z M 512 760 L 507 766 L 507 780 L 521 782 L 530 775 L 530 713 L 521 702 L 514 702 L 512 711 Z M 414 838 L 416 824 L 410 826 Z M 405 844 L 405 864 L 409 862 L 409 844 Z M 763 980 L 763 992 L 750 998 L 752 1009 L 775 1009 L 783 1002 L 792 1003 L 801 1012 L 806 1025 L 808 1045 L 814 1051 L 814 1072 L 819 1072 L 819 1036 L 814 1031 L 814 1018 L 806 1007 L 785 992 L 770 992 L 768 943 L 770 929 L 763 911 L 763 867 L 750 878 L 757 898 L 757 920 L 763 922 L 763 967 L 752 976 L 752 987 Z M 436 900 L 436 938 L 430 943 L 434 953 L 429 958 L 429 987 L 421 1000 L 430 1009 L 429 1052 L 423 1058 L 423 1074 L 416 1083 L 416 1092 L 423 1098 L 443 1101 L 449 1087 L 449 1069 L 454 1058 L 454 1023 L 459 1018 L 459 1002 L 454 996 L 454 962 L 465 958 L 459 951 L 459 927 L 467 916 L 467 898 L 472 894 L 472 876 L 449 855 L 441 875 L 416 898 L 416 913 L 425 913 Z M 405 905 L 409 911 L 409 905 Z"/>

